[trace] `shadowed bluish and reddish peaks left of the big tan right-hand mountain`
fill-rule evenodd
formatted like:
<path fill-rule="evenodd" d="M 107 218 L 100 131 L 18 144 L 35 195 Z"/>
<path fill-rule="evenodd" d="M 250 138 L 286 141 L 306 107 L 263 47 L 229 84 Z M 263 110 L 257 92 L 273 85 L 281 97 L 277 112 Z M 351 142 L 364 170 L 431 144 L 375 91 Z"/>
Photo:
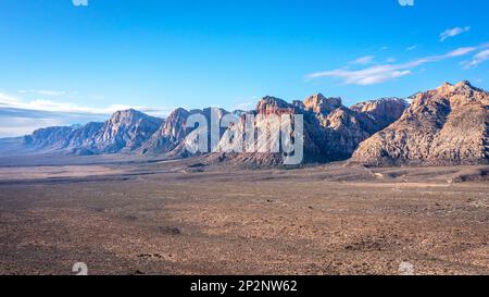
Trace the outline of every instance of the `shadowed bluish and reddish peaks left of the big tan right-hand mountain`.
<path fill-rule="evenodd" d="M 254 124 L 261 129 L 268 129 L 268 121 L 284 114 L 301 114 L 303 116 L 303 161 L 305 163 L 324 163 L 346 160 L 351 157 L 358 145 L 378 132 L 385 125 L 397 120 L 399 109 L 405 101 L 383 100 L 369 101 L 349 109 L 341 103 L 340 98 L 326 98 L 321 94 L 311 96 L 304 101 L 288 103 L 285 100 L 264 97 L 253 111 L 236 111 L 229 113 L 223 109 L 208 108 L 204 110 L 175 110 L 166 120 L 152 117 L 135 110 L 116 112 L 105 123 L 89 123 L 80 127 L 52 127 L 40 129 L 25 137 L 25 143 L 33 148 L 64 150 L 74 154 L 98 154 L 114 152 L 138 152 L 145 154 L 161 154 L 168 158 L 186 158 L 205 154 L 213 151 L 211 126 L 198 129 L 186 128 L 186 122 L 192 114 L 200 113 L 210 124 L 211 119 L 220 121 L 225 115 L 235 115 L 244 121 L 247 114 L 254 116 Z M 279 117 L 277 117 L 279 119 Z M 280 143 L 284 123 L 269 126 L 269 135 L 265 147 Z M 227 132 L 237 129 L 239 125 L 220 127 L 217 146 L 225 148 Z M 198 143 L 198 133 L 209 135 L 206 152 L 189 152 L 187 145 Z M 224 138 L 223 138 L 224 136 Z M 233 136 L 230 136 L 233 137 Z M 246 139 L 243 139 L 244 141 Z M 254 140 L 256 143 L 256 140 Z M 283 162 L 281 152 L 263 152 L 263 144 L 255 144 L 256 150 L 250 153 L 239 153 L 230 158 L 228 153 L 217 154 L 218 160 L 233 160 L 236 164 L 263 166 L 277 165 Z M 281 151 L 281 145 L 280 145 Z M 247 152 L 247 151 L 246 151 Z"/>

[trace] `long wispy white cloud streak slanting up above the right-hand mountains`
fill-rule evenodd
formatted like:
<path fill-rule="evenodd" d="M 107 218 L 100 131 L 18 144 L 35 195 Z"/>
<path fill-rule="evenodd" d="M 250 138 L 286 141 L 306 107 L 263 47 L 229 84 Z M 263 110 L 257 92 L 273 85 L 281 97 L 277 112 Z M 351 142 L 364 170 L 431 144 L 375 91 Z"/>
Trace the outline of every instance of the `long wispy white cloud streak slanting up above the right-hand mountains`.
<path fill-rule="evenodd" d="M 444 54 L 418 58 L 410 62 L 400 64 L 388 63 L 384 65 L 374 65 L 363 70 L 339 69 L 325 72 L 316 72 L 309 74 L 306 78 L 313 79 L 319 77 L 335 77 L 342 79 L 347 85 L 375 85 L 410 75 L 413 73 L 415 67 L 427 63 L 467 55 L 485 46 L 459 48 Z"/>

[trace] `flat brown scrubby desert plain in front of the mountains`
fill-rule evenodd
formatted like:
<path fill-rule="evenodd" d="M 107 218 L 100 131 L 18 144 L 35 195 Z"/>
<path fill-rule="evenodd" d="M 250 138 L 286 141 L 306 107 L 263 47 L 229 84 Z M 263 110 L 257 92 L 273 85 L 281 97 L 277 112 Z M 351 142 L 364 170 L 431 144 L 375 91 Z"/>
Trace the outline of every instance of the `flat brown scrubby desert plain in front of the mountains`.
<path fill-rule="evenodd" d="M 121 160 L 1 159 L 0 274 L 489 274 L 488 166 Z"/>

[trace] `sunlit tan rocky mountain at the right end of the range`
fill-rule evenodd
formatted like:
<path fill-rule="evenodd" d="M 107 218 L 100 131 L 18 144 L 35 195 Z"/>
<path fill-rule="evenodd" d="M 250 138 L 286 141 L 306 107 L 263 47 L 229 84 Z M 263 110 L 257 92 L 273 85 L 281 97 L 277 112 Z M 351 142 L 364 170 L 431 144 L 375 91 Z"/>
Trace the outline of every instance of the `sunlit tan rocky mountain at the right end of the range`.
<path fill-rule="evenodd" d="M 416 95 L 403 115 L 356 149 L 369 164 L 487 163 L 489 94 L 468 82 Z"/>

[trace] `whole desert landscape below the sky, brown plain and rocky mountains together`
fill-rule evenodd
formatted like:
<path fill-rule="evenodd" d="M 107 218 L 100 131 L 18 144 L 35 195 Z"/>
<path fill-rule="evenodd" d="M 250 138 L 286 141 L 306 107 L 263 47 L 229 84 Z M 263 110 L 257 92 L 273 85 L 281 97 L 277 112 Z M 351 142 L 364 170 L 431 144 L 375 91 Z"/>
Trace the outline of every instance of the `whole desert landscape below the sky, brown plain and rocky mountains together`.
<path fill-rule="evenodd" d="M 300 165 L 184 145 L 196 112 L 284 110 L 304 119 Z M 0 274 L 489 274 L 489 94 L 468 82 L 350 108 L 126 110 L 0 153 Z"/>

